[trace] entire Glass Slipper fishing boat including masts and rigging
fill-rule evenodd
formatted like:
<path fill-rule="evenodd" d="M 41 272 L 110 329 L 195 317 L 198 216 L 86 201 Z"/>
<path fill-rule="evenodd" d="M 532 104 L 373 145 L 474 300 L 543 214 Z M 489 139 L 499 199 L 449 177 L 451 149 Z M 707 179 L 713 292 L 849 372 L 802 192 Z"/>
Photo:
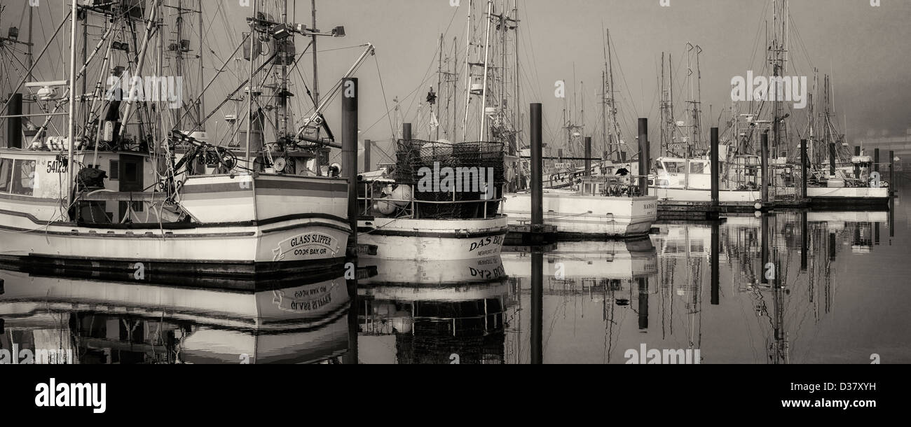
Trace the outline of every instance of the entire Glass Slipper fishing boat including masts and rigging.
<path fill-rule="evenodd" d="M 321 155 L 338 144 L 331 134 L 319 135 L 328 129 L 322 111 L 341 84 L 297 127 L 287 71 L 296 55 L 294 36 L 343 36 L 344 31 L 320 33 L 293 25 L 286 22 L 286 5 L 273 11 L 260 4 L 254 2 L 248 19 L 251 33 L 231 55 L 249 48 L 249 78 L 222 103 L 245 92 L 248 117 L 235 120 L 231 129 L 241 132 L 246 122 L 241 154 L 241 147 L 231 147 L 233 135 L 225 144 L 206 137 L 205 124 L 220 107 L 206 117 L 201 99 L 218 75 L 204 84 L 200 64 L 194 100 L 181 80 L 162 77 L 186 66 L 195 47 L 182 38 L 165 47 L 171 42 L 165 24 L 174 15 L 166 15 L 163 0 L 136 7 L 73 2 L 59 26 L 69 21 L 73 35 L 69 78 L 35 81 L 33 71 L 44 64 L 43 56 L 30 58 L 32 69 L 19 76 L 5 102 L 9 108 L 2 118 L 9 132 L 0 144 L 0 232 L 5 235 L 0 257 L 136 280 L 155 274 L 254 278 L 342 263 L 353 232 L 346 219 L 347 180 L 327 174 Z M 202 15 L 204 5 L 196 6 Z M 279 19 L 272 17 L 275 12 Z M 182 14 L 177 15 L 178 35 Z M 79 19 L 83 15 L 86 19 Z M 162 25 L 154 25 L 158 22 Z M 104 29 L 94 50 L 81 58 L 75 37 L 79 25 Z M 130 37 L 122 31 L 125 25 L 144 25 L 145 31 Z M 358 64 L 372 53 L 368 46 Z M 201 52 L 198 57 L 201 63 Z M 285 73 L 264 76 L 267 66 Z M 106 88 L 112 70 L 115 83 Z M 92 71 L 97 79 L 90 78 Z M 26 94 L 20 92 L 23 87 Z M 268 89 L 273 93 L 261 101 Z M 29 109 L 42 112 L 14 114 L 22 111 L 24 97 Z M 67 113 L 57 112 L 64 107 Z M 274 131 L 262 126 L 266 111 L 277 112 Z M 62 133 L 56 132 L 61 116 L 67 117 Z M 45 121 L 24 123 L 23 117 Z M 26 144 L 25 137 L 30 138 Z"/>

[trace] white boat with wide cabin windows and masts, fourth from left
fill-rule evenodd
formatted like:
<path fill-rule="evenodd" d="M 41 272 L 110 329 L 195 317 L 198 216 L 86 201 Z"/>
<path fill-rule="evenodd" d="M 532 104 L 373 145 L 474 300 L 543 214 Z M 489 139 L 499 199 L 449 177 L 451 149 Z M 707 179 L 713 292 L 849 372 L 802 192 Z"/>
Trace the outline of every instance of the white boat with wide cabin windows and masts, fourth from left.
<path fill-rule="evenodd" d="M 668 55 L 667 63 L 665 55 L 661 56 L 661 157 L 657 158 L 650 171 L 650 184 L 655 188 L 662 210 L 711 203 L 713 173 L 719 177 L 718 198 L 724 208 L 753 209 L 761 207 L 763 199 L 779 205 L 798 204 L 796 183 L 800 168 L 789 165 L 786 157 L 771 155 L 767 149 L 752 149 L 753 145 L 760 146 L 760 140 L 764 147 L 768 147 L 772 120 L 759 120 L 759 113 L 739 117 L 734 106 L 732 115 L 735 117 L 729 122 L 730 128 L 718 136 L 717 152 L 711 147 L 715 141 L 703 135 L 701 54 L 701 46 L 686 44 L 689 70 L 686 83 L 690 87 L 690 96 L 686 101 L 685 120 L 675 117 L 672 56 Z M 712 156 L 718 158 L 718 171 L 712 170 Z M 763 156 L 766 156 L 765 165 Z M 767 192 L 765 195 L 763 186 Z"/>

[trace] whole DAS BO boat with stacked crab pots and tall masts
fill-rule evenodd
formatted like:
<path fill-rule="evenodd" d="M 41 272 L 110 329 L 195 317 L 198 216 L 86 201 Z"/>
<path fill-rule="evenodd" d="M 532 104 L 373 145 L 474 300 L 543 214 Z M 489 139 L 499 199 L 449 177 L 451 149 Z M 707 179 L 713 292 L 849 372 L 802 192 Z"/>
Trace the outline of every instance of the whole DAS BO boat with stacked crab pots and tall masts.
<path fill-rule="evenodd" d="M 502 45 L 502 37 L 517 20 L 516 15 L 504 13 L 506 9 L 496 9 L 494 1 L 486 2 L 486 14 L 479 13 L 479 3 L 469 0 L 467 5 L 463 91 L 458 90 L 455 73 L 443 72 L 441 36 L 436 53 L 440 81 L 422 103 L 428 111 L 423 116 L 426 134 L 420 123 L 417 137 L 411 124 L 404 124 L 401 136 L 394 136 L 394 168 L 360 183 L 358 243 L 376 248 L 375 255 L 364 258 L 481 259 L 499 255 L 503 247 L 508 225 L 502 204 L 507 170 L 511 170 L 506 159 L 507 154 L 515 154 L 515 133 L 496 132 L 504 123 L 505 109 L 480 107 L 472 99 L 494 98 L 495 89 L 507 86 L 493 85 L 488 78 L 495 73 L 497 56 L 492 40 L 499 38 Z M 483 16 L 485 24 L 479 25 L 477 16 Z M 493 34 L 495 21 L 501 24 L 498 35 Z M 445 104 L 438 102 L 437 94 L 442 92 L 447 94 Z M 451 126 L 444 127 L 439 117 L 455 117 L 461 111 L 452 102 L 458 93 L 465 94 L 465 115 L 461 120 L 444 120 Z M 478 125 L 469 117 L 476 117 Z"/>

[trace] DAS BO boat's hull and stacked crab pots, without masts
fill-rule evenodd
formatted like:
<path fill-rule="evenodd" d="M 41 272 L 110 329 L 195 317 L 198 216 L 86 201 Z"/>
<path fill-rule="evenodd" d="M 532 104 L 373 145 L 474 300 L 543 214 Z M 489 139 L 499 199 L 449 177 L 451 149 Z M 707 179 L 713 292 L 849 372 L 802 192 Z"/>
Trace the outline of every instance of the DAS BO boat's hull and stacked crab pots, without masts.
<path fill-rule="evenodd" d="M 403 140 L 399 147 L 401 161 L 393 178 L 361 182 L 358 243 L 376 249 L 363 258 L 460 260 L 499 255 L 508 231 L 501 211 L 502 146 Z M 457 170 L 465 174 L 458 172 L 455 178 Z M 439 179 L 449 179 L 452 187 Z"/>

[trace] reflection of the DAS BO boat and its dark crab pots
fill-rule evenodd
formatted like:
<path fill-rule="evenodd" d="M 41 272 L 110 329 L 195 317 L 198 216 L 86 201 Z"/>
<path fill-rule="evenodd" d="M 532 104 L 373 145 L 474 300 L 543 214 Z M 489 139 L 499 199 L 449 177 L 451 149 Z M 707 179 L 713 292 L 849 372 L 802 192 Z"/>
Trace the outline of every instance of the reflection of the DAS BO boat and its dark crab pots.
<path fill-rule="evenodd" d="M 499 256 L 369 261 L 358 283 L 362 363 L 503 363 L 509 290 Z"/>

